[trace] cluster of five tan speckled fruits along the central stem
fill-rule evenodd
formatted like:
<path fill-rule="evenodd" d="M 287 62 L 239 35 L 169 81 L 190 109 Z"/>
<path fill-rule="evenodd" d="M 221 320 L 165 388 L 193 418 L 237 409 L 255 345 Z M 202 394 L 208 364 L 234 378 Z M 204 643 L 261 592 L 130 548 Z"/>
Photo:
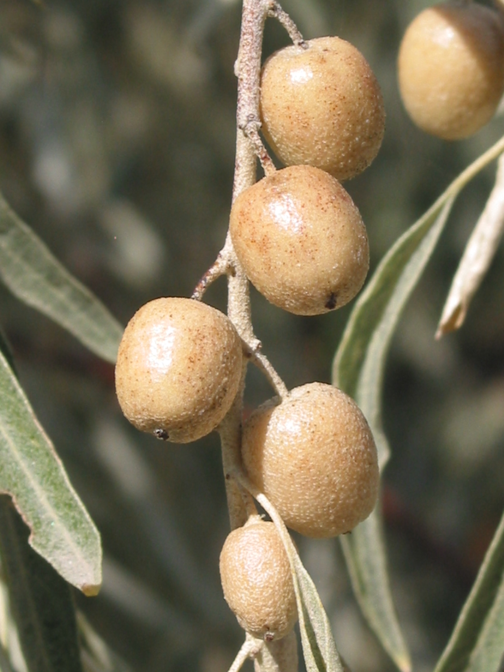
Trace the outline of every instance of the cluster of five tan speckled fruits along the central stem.
<path fill-rule="evenodd" d="M 339 179 L 360 173 L 378 152 L 378 83 L 344 40 L 290 46 L 263 67 L 261 118 L 287 167 L 235 200 L 236 255 L 273 304 L 306 315 L 339 308 L 368 271 L 366 228 Z M 138 429 L 184 443 L 219 425 L 242 376 L 243 343 L 224 314 L 192 299 L 159 298 L 126 327 L 116 390 Z M 254 487 L 301 534 L 349 532 L 376 503 L 372 433 L 353 400 L 331 385 L 306 384 L 259 407 L 243 426 L 241 455 Z M 253 516 L 231 532 L 220 573 L 224 597 L 247 632 L 272 640 L 292 630 L 294 585 L 273 523 Z"/>

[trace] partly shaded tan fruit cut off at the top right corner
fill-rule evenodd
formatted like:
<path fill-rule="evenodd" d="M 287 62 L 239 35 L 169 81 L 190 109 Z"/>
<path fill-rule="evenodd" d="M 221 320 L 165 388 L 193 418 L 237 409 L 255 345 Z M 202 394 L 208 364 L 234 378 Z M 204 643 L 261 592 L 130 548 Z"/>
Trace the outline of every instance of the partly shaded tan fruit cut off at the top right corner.
<path fill-rule="evenodd" d="M 434 5 L 405 32 L 398 82 L 409 116 L 427 133 L 459 140 L 484 126 L 504 91 L 504 28 L 496 11 Z"/>

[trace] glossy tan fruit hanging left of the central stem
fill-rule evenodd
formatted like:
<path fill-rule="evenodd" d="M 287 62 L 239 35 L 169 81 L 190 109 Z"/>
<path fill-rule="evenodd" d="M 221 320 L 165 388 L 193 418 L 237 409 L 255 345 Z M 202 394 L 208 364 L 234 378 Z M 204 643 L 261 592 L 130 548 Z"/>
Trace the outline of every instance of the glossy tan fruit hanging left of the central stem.
<path fill-rule="evenodd" d="M 124 331 L 116 392 L 135 427 L 185 444 L 220 423 L 241 370 L 241 339 L 226 315 L 192 299 L 158 298 Z"/>

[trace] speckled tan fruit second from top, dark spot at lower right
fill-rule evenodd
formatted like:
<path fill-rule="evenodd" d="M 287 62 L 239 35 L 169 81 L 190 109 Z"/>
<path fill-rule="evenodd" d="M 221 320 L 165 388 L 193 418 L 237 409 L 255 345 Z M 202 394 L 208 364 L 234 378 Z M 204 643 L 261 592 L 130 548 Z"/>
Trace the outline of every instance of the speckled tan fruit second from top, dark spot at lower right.
<path fill-rule="evenodd" d="M 312 166 L 263 177 L 231 208 L 230 234 L 252 284 L 300 315 L 340 308 L 369 267 L 366 227 L 341 184 Z"/>

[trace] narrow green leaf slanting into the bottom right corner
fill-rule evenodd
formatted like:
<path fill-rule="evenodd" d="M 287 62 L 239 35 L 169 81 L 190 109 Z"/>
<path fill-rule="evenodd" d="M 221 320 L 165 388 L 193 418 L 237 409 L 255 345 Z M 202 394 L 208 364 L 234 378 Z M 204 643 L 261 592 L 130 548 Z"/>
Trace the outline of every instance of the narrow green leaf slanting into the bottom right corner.
<path fill-rule="evenodd" d="M 504 661 L 504 515 L 435 672 L 499 672 Z"/>

